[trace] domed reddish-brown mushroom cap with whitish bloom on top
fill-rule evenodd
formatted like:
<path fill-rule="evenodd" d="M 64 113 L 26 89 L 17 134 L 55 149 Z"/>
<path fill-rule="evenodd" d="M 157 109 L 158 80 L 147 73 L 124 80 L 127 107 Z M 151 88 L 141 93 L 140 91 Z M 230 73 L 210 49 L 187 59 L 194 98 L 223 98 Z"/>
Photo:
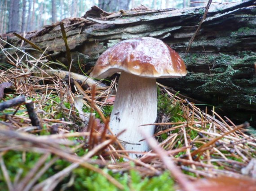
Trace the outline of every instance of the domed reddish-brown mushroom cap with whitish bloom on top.
<path fill-rule="evenodd" d="M 178 53 L 163 41 L 151 37 L 128 39 L 110 47 L 99 57 L 90 76 L 105 78 L 122 71 L 146 78 L 187 74 Z"/>

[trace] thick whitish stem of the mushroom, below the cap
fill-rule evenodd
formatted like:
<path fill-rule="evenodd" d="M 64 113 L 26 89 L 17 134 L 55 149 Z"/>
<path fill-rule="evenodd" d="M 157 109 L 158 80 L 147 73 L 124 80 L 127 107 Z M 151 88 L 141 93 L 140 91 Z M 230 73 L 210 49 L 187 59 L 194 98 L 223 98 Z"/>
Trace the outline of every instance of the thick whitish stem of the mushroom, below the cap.
<path fill-rule="evenodd" d="M 110 116 L 110 128 L 116 135 L 126 129 L 119 136 L 124 141 L 126 150 L 148 151 L 146 141 L 138 128 L 147 135 L 154 134 L 154 125 L 141 126 L 154 123 L 157 115 L 157 89 L 156 80 L 144 78 L 122 72 L 119 78 L 115 105 Z M 130 155 L 135 157 L 134 154 Z"/>

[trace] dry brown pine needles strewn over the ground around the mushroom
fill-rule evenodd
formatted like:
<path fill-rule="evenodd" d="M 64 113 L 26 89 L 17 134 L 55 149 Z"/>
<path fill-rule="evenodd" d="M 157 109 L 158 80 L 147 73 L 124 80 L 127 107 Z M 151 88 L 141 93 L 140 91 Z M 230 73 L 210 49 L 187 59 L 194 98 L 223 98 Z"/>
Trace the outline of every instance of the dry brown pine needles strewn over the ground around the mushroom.
<path fill-rule="evenodd" d="M 8 52 L 4 52 L 8 55 Z M 0 83 L 13 83 L 13 92 L 5 93 L 3 101 L 26 95 L 27 99 L 33 100 L 36 113 L 43 124 L 43 128 L 31 126 L 24 104 L 0 113 L 0 167 L 9 190 L 53 190 L 66 174 L 78 166 L 104 175 L 122 189 L 123 185 L 104 172 L 102 167 L 113 172 L 125 172 L 133 168 L 142 176 L 154 176 L 166 170 L 166 157 L 174 161 L 174 166 L 183 170 L 189 179 L 216 175 L 239 178 L 244 176 L 241 169 L 256 156 L 256 138 L 246 133 L 247 123 L 236 126 L 215 111 L 202 111 L 193 103 L 174 96 L 168 87 L 159 85 L 161 93 L 173 105 L 180 102 L 181 112 L 178 115 L 182 120 L 155 123 L 160 129 L 154 135 L 160 141 L 156 147 L 162 148 L 161 151 L 143 153 L 144 156 L 140 159 L 130 158 L 128 151 L 122 149 L 119 141 L 109 132 L 108 118 L 102 112 L 103 106 L 110 105 L 106 103 L 106 98 L 111 96 L 113 89 L 115 91 L 115 80 L 101 91 L 93 88 L 82 90 L 77 84 L 71 87 L 58 76 L 34 76 L 33 72 L 42 71 L 42 66 L 47 64 L 44 58 L 31 59 L 26 54 L 17 58 L 10 55 L 8 57 L 9 64 L 13 67 L 0 70 Z M 85 106 L 91 107 L 91 111 L 97 111 L 102 124 L 98 123 L 93 114 L 89 115 L 88 123 L 83 123 L 80 117 L 83 114 L 79 115 L 75 109 L 74 100 L 78 95 L 83 95 Z M 59 98 L 59 102 L 56 98 Z M 65 106 L 66 103 L 69 103 L 70 108 Z M 58 119 L 60 113 L 62 118 Z M 51 134 L 43 135 L 43 132 Z M 161 139 L 163 134 L 167 136 L 164 140 Z M 81 140 L 74 142 L 69 139 L 71 137 L 80 137 Z M 156 149 L 153 142 L 150 145 Z M 76 151 L 80 148 L 88 149 L 88 152 L 84 156 L 78 156 Z M 17 181 L 12 183 L 3 161 L 3 156 L 10 150 L 22 151 L 24 154 L 38 152 L 43 155 L 29 174 L 24 178 L 17 174 Z M 49 155 L 53 155 L 53 159 L 43 166 Z M 93 156 L 98 156 L 98 159 L 93 160 Z M 37 183 L 40 175 L 60 158 L 71 162 L 71 165 Z M 126 160 L 119 162 L 120 158 Z M 130 161 L 135 166 L 131 166 Z M 94 164 L 101 168 L 93 166 Z M 172 167 L 167 169 L 172 171 Z"/>

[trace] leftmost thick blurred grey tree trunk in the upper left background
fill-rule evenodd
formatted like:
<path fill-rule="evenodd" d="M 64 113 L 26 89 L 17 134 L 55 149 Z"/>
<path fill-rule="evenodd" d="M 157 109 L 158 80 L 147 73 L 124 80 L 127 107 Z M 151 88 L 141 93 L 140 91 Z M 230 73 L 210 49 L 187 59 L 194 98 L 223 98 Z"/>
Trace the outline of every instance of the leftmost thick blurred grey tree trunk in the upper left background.
<path fill-rule="evenodd" d="M 19 31 L 19 0 L 11 0 L 9 7 L 9 31 Z"/>

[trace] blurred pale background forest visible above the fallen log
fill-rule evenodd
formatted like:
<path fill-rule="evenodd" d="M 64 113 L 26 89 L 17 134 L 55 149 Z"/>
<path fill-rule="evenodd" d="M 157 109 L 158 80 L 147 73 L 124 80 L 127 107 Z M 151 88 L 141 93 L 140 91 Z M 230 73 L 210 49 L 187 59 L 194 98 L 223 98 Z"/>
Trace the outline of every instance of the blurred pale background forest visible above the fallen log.
<path fill-rule="evenodd" d="M 215 0 L 225 3 L 241 0 Z M 200 6 L 198 0 L 0 0 L 0 34 L 40 30 L 68 17 L 82 17 L 93 5 L 107 12 L 143 4 L 152 9 Z"/>

